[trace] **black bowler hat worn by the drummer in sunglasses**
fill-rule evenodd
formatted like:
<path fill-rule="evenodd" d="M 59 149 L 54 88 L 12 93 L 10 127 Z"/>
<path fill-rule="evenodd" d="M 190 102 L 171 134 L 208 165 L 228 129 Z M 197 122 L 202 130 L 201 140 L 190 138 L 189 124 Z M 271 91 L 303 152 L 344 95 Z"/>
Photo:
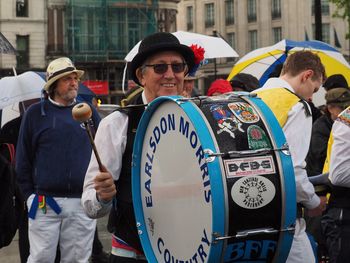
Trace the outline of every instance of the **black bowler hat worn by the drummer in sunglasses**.
<path fill-rule="evenodd" d="M 194 54 L 190 47 L 180 44 L 180 41 L 171 33 L 159 32 L 145 37 L 140 46 L 139 51 L 130 63 L 131 78 L 139 85 L 141 83 L 136 77 L 136 69 L 151 55 L 162 51 L 175 51 L 183 56 L 191 71 L 194 67 Z"/>

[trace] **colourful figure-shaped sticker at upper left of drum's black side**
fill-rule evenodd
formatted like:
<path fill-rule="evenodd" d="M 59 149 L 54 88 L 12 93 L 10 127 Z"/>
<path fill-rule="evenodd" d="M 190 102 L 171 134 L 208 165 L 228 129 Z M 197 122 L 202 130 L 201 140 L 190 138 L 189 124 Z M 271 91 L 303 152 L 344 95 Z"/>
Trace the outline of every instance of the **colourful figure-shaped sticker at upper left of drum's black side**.
<path fill-rule="evenodd" d="M 213 114 L 214 119 L 217 121 L 219 130 L 217 134 L 227 132 L 232 138 L 235 138 L 235 131 L 238 129 L 244 132 L 242 129 L 242 123 L 230 112 L 225 109 L 224 105 L 212 105 L 210 111 Z"/>

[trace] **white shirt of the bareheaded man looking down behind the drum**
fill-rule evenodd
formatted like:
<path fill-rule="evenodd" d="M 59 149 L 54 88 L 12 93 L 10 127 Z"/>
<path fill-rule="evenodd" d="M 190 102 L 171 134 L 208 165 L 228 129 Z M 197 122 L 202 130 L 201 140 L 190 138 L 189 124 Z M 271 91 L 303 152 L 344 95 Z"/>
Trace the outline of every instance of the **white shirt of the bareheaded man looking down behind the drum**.
<path fill-rule="evenodd" d="M 287 88 L 295 93 L 289 83 L 280 78 L 270 78 L 265 85 L 258 89 Z M 314 186 L 310 183 L 305 166 L 305 158 L 309 150 L 312 130 L 312 117 L 306 116 L 304 104 L 298 102 L 288 112 L 288 119 L 283 127 L 283 132 L 291 153 L 297 202 L 306 208 L 313 209 L 320 204 L 320 198 L 315 194 Z"/>

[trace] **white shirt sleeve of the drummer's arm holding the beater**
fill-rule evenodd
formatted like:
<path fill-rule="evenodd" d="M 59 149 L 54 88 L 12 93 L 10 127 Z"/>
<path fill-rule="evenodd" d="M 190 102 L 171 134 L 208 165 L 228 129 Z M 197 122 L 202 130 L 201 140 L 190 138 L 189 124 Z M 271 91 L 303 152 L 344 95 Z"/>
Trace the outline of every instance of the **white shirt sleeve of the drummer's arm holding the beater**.
<path fill-rule="evenodd" d="M 119 179 L 122 168 L 122 158 L 126 147 L 128 128 L 127 115 L 113 112 L 101 120 L 98 127 L 95 144 L 102 164 L 112 174 L 114 181 Z M 92 153 L 84 180 L 82 205 L 91 218 L 106 215 L 111 209 L 112 202 L 102 203 L 97 200 L 94 188 L 94 178 L 99 173 L 95 154 Z"/>

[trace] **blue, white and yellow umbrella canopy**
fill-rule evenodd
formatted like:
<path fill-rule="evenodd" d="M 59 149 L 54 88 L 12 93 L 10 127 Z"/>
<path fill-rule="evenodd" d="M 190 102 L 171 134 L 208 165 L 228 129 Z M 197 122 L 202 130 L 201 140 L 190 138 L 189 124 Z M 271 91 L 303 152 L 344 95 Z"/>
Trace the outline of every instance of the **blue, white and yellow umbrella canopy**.
<path fill-rule="evenodd" d="M 326 69 L 327 76 L 342 74 L 350 83 L 350 65 L 343 55 L 331 45 L 321 41 L 292 41 L 284 39 L 277 44 L 253 50 L 234 65 L 228 80 L 243 72 L 259 79 L 262 86 L 276 66 L 283 64 L 288 54 L 300 50 L 317 53 Z"/>

